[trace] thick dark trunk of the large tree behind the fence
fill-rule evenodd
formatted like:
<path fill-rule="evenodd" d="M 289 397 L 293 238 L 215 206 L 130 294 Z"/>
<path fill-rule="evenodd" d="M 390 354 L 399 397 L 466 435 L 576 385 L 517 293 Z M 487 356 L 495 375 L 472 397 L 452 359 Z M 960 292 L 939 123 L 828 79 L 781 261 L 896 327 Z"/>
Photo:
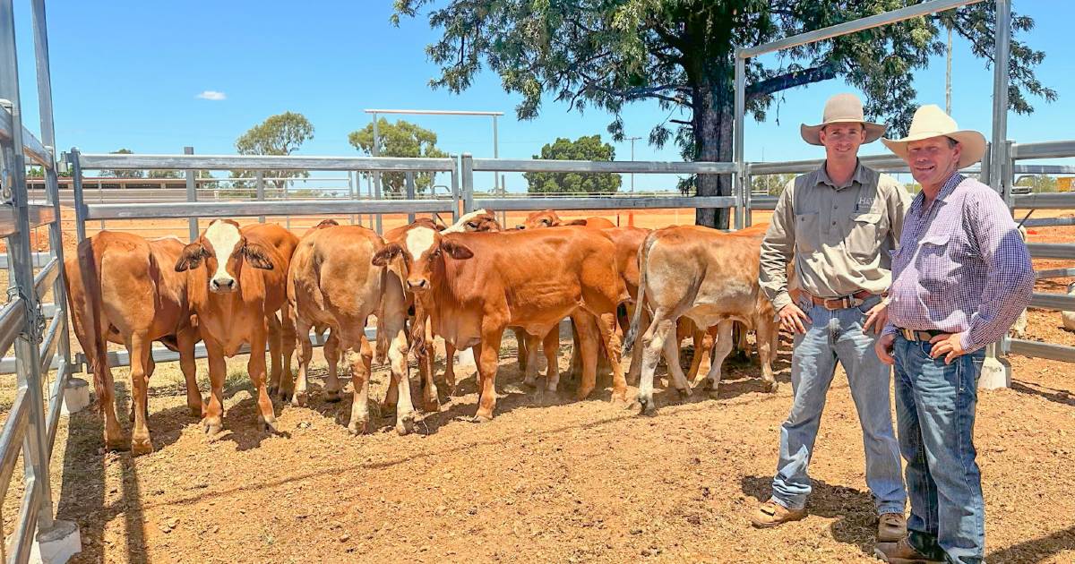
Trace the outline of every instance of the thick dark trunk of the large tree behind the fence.
<path fill-rule="evenodd" d="M 693 130 L 694 160 L 730 162 L 732 160 L 732 128 L 734 125 L 734 88 L 727 64 L 715 63 L 706 69 L 702 84 L 694 89 Z M 700 174 L 698 196 L 731 196 L 732 175 Z M 694 222 L 717 229 L 728 229 L 732 209 L 699 207 Z"/>

